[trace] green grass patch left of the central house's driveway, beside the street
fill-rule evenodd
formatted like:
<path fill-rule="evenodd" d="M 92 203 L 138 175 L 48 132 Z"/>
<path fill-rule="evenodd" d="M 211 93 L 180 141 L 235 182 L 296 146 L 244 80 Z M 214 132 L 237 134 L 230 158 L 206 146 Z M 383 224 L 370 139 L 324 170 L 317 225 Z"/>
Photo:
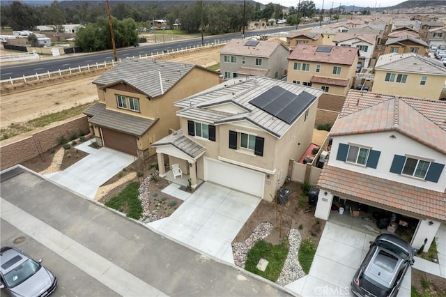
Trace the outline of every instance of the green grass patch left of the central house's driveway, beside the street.
<path fill-rule="evenodd" d="M 125 213 L 128 218 L 139 220 L 143 212 L 141 201 L 138 199 L 139 183 L 129 183 L 118 195 L 105 202 L 105 206 Z"/>

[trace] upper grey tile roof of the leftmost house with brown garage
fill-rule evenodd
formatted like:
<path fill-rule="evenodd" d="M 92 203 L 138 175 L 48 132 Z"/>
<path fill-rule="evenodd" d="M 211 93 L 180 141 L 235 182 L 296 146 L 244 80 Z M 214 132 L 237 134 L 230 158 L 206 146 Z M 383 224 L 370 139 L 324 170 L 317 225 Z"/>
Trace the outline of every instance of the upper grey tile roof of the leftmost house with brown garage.
<path fill-rule="evenodd" d="M 155 98 L 169 91 L 196 67 L 201 68 L 201 66 L 171 61 L 126 58 L 107 73 L 93 80 L 93 84 L 99 84 L 104 89 L 114 84 L 125 83 L 146 96 Z"/>

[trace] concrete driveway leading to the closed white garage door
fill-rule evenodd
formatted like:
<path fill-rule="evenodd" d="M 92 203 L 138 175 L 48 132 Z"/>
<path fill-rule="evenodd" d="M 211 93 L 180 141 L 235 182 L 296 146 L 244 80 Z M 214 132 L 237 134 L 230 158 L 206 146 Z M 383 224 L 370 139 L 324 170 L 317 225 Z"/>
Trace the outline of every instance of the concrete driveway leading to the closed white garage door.
<path fill-rule="evenodd" d="M 231 243 L 260 201 L 205 182 L 169 218 L 148 225 L 195 250 L 234 264 Z"/>

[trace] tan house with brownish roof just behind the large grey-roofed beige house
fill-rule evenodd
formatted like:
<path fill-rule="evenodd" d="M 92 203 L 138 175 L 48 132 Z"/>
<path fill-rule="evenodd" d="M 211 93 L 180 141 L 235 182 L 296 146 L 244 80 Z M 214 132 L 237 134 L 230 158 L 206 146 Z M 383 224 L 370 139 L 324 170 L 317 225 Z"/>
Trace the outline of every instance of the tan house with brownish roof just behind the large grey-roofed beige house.
<path fill-rule="evenodd" d="M 429 52 L 429 46 L 420 38 L 413 38 L 412 36 L 387 38 L 384 54 L 405 54 L 408 52 L 425 55 Z"/>

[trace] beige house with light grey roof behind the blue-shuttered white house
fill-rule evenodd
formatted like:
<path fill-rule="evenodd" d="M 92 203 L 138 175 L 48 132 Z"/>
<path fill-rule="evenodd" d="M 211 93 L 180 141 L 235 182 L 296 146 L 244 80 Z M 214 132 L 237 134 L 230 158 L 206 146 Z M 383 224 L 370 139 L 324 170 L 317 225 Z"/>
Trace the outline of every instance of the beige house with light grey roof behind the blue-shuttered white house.
<path fill-rule="evenodd" d="M 418 54 L 384 54 L 374 68 L 371 91 L 438 100 L 446 80 L 443 63 Z"/>

